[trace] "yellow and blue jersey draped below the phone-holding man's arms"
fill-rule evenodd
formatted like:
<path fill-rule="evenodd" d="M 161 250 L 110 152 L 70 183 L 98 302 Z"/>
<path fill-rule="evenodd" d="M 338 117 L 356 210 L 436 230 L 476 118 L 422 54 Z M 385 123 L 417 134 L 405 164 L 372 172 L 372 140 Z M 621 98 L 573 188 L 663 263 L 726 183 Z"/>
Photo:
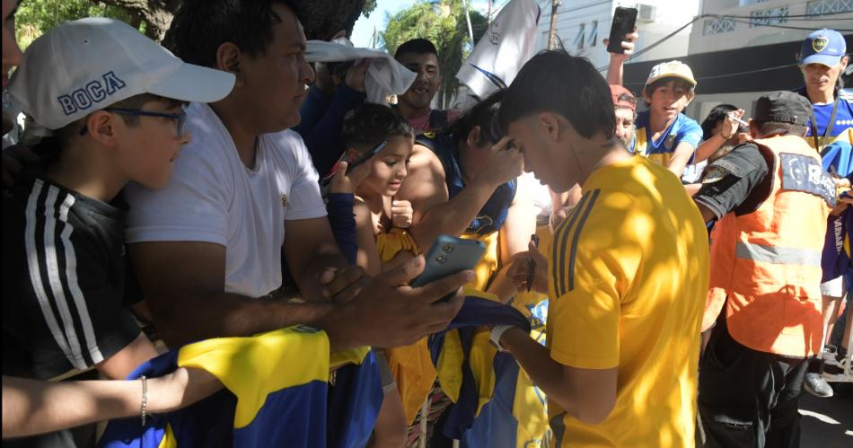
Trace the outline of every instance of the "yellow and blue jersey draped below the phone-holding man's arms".
<path fill-rule="evenodd" d="M 99 446 L 187 448 L 365 446 L 383 400 L 368 347 L 330 356 L 326 333 L 288 327 L 252 338 L 215 338 L 173 349 L 128 379 L 178 367 L 212 373 L 224 390 L 161 416 L 113 420 Z M 330 370 L 335 384 L 330 386 Z"/>

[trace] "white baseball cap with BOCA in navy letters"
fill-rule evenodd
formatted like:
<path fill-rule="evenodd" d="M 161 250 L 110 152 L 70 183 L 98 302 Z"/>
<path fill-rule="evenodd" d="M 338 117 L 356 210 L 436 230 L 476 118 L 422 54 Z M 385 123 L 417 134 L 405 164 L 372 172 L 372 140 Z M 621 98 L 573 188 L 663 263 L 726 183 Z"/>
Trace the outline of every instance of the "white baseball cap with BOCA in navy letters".
<path fill-rule="evenodd" d="M 34 40 L 8 90 L 23 111 L 59 129 L 117 101 L 153 93 L 180 101 L 222 100 L 234 75 L 181 61 L 125 22 L 65 22 Z"/>

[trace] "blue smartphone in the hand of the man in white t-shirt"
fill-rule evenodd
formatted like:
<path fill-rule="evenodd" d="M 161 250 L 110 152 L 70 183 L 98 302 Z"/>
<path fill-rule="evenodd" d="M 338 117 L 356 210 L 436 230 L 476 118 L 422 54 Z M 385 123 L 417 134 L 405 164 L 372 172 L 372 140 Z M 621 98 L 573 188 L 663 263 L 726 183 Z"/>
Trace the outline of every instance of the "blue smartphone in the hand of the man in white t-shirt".
<path fill-rule="evenodd" d="M 463 240 L 450 235 L 438 235 L 433 247 L 427 252 L 427 267 L 411 286 L 421 287 L 440 278 L 452 276 L 463 270 L 473 269 L 486 251 L 486 244 L 476 240 Z M 437 302 L 446 302 L 453 297 L 448 294 Z"/>

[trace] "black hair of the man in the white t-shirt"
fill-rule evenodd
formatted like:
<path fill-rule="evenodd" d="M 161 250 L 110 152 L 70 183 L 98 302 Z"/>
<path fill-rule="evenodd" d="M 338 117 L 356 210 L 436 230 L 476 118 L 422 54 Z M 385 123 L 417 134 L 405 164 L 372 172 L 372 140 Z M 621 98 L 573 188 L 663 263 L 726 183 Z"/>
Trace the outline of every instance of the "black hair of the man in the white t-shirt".
<path fill-rule="evenodd" d="M 163 38 L 163 46 L 184 62 L 216 68 L 216 51 L 232 42 L 249 56 L 262 56 L 281 17 L 273 4 L 284 4 L 299 17 L 288 0 L 184 0 Z"/>

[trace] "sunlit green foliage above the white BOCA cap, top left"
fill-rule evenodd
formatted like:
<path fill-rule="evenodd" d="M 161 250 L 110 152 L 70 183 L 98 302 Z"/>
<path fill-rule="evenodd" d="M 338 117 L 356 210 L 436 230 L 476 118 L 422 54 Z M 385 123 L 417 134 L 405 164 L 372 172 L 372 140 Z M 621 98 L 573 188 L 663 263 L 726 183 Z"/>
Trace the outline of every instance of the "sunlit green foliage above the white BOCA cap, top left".
<path fill-rule="evenodd" d="M 43 32 L 66 21 L 84 17 L 112 17 L 128 23 L 138 23 L 124 9 L 90 0 L 24 0 L 15 14 L 15 34 L 21 48 Z"/>

